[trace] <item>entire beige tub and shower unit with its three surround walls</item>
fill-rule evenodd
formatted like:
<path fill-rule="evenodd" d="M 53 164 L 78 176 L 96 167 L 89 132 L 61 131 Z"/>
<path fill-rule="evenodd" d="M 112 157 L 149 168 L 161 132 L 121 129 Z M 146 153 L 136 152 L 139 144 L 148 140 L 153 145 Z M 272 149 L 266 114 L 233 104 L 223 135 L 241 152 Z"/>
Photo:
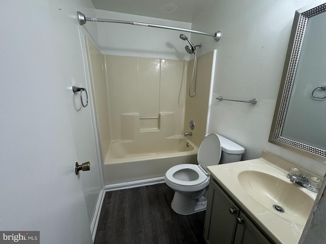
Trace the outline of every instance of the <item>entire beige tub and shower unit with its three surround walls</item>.
<path fill-rule="evenodd" d="M 106 189 L 162 182 L 171 167 L 197 164 L 216 52 L 199 57 L 189 101 L 193 60 L 103 55 L 87 37 L 85 45 Z M 185 137 L 191 119 L 197 127 Z"/>

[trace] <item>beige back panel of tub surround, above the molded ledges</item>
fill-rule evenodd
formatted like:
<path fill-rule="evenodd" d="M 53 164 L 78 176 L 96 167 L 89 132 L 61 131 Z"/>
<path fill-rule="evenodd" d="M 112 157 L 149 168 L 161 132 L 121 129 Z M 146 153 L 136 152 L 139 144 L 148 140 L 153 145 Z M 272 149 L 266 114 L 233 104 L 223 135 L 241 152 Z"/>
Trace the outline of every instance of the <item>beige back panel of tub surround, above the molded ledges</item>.
<path fill-rule="evenodd" d="M 105 55 L 105 67 L 111 140 L 125 139 L 125 130 L 162 129 L 162 113 L 174 114 L 169 136 L 183 133 L 185 61 Z M 138 127 L 124 124 L 133 115 Z"/>

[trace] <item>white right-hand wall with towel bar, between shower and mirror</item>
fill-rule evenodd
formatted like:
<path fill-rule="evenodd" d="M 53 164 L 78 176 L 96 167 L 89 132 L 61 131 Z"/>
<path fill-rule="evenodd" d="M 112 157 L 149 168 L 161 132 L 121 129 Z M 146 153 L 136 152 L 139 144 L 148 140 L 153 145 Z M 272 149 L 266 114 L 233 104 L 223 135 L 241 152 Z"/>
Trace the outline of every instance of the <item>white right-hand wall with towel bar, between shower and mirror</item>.
<path fill-rule="evenodd" d="M 323 174 L 325 165 L 268 143 L 294 12 L 312 0 L 215 0 L 192 28 L 222 39 L 192 36 L 202 43 L 199 54 L 218 50 L 209 132 L 218 132 L 246 148 L 243 159 L 261 156 L 263 149 Z M 228 99 L 258 99 L 256 105 Z"/>

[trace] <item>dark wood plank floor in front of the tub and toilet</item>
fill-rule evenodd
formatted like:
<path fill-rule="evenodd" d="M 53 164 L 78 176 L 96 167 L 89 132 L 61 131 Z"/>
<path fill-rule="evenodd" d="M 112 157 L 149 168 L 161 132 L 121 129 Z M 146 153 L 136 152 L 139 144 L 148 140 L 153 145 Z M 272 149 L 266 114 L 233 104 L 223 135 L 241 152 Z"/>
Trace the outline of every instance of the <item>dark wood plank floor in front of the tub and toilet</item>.
<path fill-rule="evenodd" d="M 106 192 L 94 244 L 204 244 L 205 211 L 176 214 L 173 194 L 166 184 Z"/>

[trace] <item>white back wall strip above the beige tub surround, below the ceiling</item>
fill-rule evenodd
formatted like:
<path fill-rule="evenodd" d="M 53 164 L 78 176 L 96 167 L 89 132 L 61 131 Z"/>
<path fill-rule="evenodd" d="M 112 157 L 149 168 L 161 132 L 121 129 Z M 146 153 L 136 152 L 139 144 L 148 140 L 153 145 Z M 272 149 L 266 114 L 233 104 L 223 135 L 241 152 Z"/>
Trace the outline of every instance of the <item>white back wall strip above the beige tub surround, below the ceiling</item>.
<path fill-rule="evenodd" d="M 191 23 L 187 22 L 103 10 L 96 10 L 96 18 L 145 22 L 191 29 Z M 189 33 L 131 24 L 87 23 L 87 25 L 95 24 L 97 25 L 98 45 L 103 54 L 177 60 L 189 59 L 189 55 L 184 50 L 184 46 L 188 45 L 188 43 L 179 38 L 181 33 L 190 38 Z"/>

